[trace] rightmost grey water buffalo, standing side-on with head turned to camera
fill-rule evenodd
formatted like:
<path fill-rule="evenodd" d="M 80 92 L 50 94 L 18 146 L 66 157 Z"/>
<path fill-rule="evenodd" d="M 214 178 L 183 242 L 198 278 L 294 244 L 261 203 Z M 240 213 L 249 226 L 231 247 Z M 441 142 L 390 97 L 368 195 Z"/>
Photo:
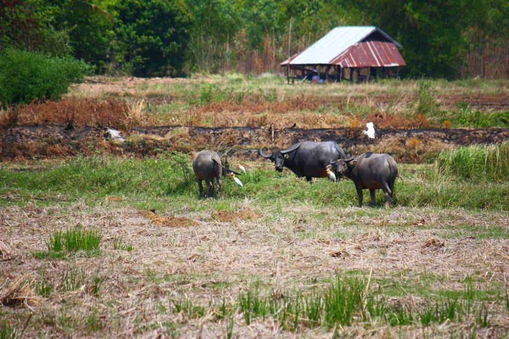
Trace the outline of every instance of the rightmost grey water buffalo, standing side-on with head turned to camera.
<path fill-rule="evenodd" d="M 398 176 L 398 165 L 388 154 L 365 153 L 347 159 L 331 159 L 330 163 L 336 167 L 338 178 L 346 176 L 355 184 L 359 197 L 359 207 L 362 207 L 362 190 L 369 188 L 371 203 L 375 205 L 375 190 L 381 188 L 385 193 L 385 206 L 388 207 L 394 193 L 394 180 Z"/>

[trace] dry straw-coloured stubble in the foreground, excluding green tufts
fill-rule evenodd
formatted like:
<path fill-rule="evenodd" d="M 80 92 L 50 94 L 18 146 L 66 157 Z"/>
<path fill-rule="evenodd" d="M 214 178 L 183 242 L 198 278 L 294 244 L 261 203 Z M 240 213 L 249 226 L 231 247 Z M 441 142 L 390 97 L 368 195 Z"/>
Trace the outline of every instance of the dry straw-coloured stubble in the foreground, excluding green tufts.
<path fill-rule="evenodd" d="M 233 302 L 240 291 L 256 281 L 273 293 L 284 293 L 294 287 L 321 286 L 321 279 L 338 271 L 372 270 L 373 281 L 385 281 L 384 288 L 418 284 L 421 274 L 436 277 L 428 283 L 431 290 L 461 290 L 459 281 L 468 275 L 476 278 L 479 289 L 505 284 L 504 272 L 509 269 L 506 240 L 448 236 L 452 228 L 472 222 L 484 223 L 487 228 L 509 228 L 504 213 L 472 215 L 463 210 L 395 208 L 361 214 L 356 208 L 330 211 L 299 205 L 287 209 L 289 213 L 285 216 L 260 219 L 260 215 L 271 212 L 254 212 L 254 216 L 253 203 L 256 204 L 239 203 L 237 207 L 245 215 L 235 213 L 235 217 L 224 211 L 154 217 L 114 205 L 92 209 L 81 204 L 68 208 L 7 207 L 3 213 L 9 224 L 0 225 L 2 241 L 18 246 L 22 256 L 0 262 L 2 276 L 8 277 L 0 281 L 0 299 L 11 305 L 4 311 L 9 317 L 16 314 L 22 324 L 32 309 L 37 309 L 26 328 L 27 336 L 37 333 L 167 336 L 176 329 L 181 336 L 222 337 L 230 320 L 215 320 L 213 308 L 207 305 L 209 302 L 220 305 L 223 298 Z M 217 222 L 216 217 L 221 214 L 229 217 Z M 313 215 L 325 218 L 315 219 Z M 165 227 L 156 221 L 175 217 L 194 223 Z M 44 241 L 51 232 L 72 227 L 76 222 L 84 228 L 100 228 L 99 257 L 77 255 L 66 262 L 40 260 L 30 255 L 45 250 Z M 422 225 L 413 225 L 419 222 Z M 352 223 L 357 226 L 352 227 Z M 394 225 L 401 226 L 394 229 Z M 132 252 L 113 248 L 113 242 L 119 238 L 132 244 Z M 61 276 L 70 268 L 83 270 L 86 283 L 76 291 L 61 293 L 58 290 Z M 30 281 L 41 274 L 57 288 L 48 298 L 40 298 L 33 289 L 27 290 Z M 96 275 L 106 277 L 98 296 L 91 292 L 90 285 Z M 374 282 L 373 286 L 381 285 Z M 186 312 L 174 312 L 172 301 L 182 300 L 205 305 L 205 314 L 189 316 Z M 401 303 L 415 300 L 420 299 L 413 295 L 393 298 L 393 302 Z M 88 325 L 93 312 L 97 312 L 101 324 L 94 331 Z M 62 325 L 63 313 L 65 324 L 70 327 Z M 248 326 L 237 314 L 233 322 L 235 337 L 332 335 L 332 330 L 323 328 L 303 327 L 297 333 L 286 332 L 270 318 Z M 490 322 L 489 328 L 478 329 L 478 336 L 496 335 L 497 328 L 509 324 L 509 318 L 501 312 Z M 164 326 L 165 323 L 172 325 Z M 469 324 L 465 320 L 425 329 L 407 326 L 405 333 L 465 334 L 469 333 Z M 376 323 L 338 329 L 341 335 L 361 336 L 392 336 L 399 331 Z"/>

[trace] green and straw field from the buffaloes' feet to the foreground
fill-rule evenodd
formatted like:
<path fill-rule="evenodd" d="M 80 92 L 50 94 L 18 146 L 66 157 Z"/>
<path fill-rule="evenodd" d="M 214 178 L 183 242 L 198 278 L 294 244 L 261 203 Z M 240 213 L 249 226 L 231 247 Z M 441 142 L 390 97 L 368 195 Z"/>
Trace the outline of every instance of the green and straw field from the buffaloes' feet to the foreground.
<path fill-rule="evenodd" d="M 349 181 L 248 162 L 244 187 L 197 201 L 181 157 L 4 165 L 8 330 L 506 334 L 507 181 L 403 165 L 393 208 L 358 209 Z"/>

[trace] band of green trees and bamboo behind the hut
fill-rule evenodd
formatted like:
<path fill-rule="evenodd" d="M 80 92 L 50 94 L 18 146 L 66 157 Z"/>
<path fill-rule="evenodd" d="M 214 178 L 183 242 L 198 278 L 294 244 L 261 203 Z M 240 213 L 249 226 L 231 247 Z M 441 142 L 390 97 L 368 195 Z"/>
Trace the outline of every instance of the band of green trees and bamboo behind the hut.
<path fill-rule="evenodd" d="M 0 49 L 71 55 L 97 73 L 260 72 L 334 26 L 370 24 L 403 45 L 403 76 L 458 77 L 476 53 L 496 54 L 486 67 L 507 77 L 507 18 L 503 0 L 0 0 Z"/>

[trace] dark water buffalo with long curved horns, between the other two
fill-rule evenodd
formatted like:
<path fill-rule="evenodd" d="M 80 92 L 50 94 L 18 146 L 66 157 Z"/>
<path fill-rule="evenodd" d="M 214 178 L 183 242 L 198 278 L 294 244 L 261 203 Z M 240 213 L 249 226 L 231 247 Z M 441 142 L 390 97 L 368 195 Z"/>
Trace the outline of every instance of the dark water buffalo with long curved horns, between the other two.
<path fill-rule="evenodd" d="M 282 172 L 288 167 L 298 178 L 327 177 L 327 166 L 330 160 L 344 159 L 345 152 L 334 142 L 301 142 L 290 146 L 286 150 L 273 150 L 266 154 L 260 150 L 260 155 L 275 163 L 276 171 Z"/>

